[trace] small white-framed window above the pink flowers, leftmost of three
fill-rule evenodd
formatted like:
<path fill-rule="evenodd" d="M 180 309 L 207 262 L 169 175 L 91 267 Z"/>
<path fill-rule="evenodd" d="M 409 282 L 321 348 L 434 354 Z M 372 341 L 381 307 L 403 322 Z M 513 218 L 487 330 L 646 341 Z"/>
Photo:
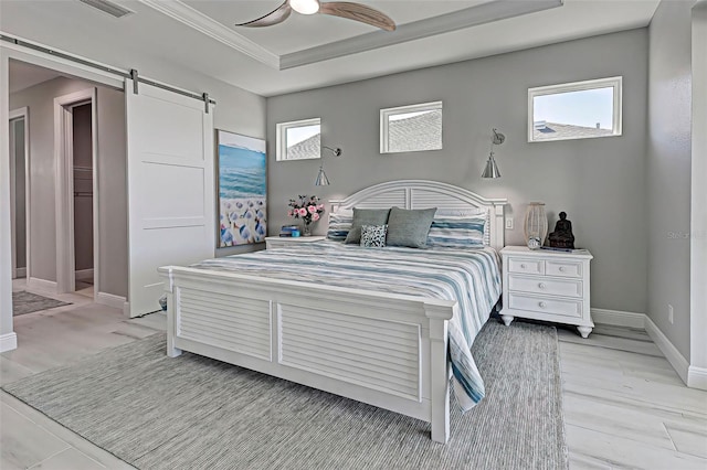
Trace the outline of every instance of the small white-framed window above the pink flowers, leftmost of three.
<path fill-rule="evenodd" d="M 306 160 L 321 158 L 321 119 L 312 118 L 276 126 L 276 160 Z"/>

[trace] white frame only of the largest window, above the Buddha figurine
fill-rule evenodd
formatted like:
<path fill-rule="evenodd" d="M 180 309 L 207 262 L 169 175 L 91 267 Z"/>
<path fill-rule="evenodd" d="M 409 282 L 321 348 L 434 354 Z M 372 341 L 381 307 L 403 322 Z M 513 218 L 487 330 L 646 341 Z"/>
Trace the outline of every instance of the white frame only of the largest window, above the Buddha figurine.
<path fill-rule="evenodd" d="M 558 137 L 553 139 L 535 140 L 535 102 L 538 96 L 558 95 L 561 93 L 584 92 L 588 89 L 613 87 L 612 133 L 604 136 L 584 137 Z M 582 82 L 562 83 L 558 85 L 538 86 L 528 88 L 528 142 L 552 142 L 557 140 L 597 139 L 602 137 L 615 137 L 623 133 L 623 76 L 595 78 Z"/>

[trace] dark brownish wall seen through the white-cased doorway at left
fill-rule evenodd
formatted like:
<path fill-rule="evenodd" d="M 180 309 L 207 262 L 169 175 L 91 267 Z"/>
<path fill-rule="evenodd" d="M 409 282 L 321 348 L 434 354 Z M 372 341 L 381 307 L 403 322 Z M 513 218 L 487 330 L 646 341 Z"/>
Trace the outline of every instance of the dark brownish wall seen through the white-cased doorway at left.
<path fill-rule="evenodd" d="M 74 140 L 74 261 L 75 269 L 93 269 L 93 137 L 91 104 L 72 111 Z M 80 171 L 76 171 L 76 167 Z"/>

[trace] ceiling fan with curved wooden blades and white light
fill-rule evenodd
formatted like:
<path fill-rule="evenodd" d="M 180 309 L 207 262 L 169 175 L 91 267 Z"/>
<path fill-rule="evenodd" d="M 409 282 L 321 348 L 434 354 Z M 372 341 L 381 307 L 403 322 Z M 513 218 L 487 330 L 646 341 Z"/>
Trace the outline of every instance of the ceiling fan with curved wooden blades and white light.
<path fill-rule="evenodd" d="M 347 20 L 360 21 L 386 31 L 395 30 L 395 22 L 374 8 L 348 1 L 320 2 L 319 0 L 285 0 L 283 4 L 270 13 L 245 23 L 239 23 L 236 26 L 272 26 L 289 18 L 293 10 L 302 14 L 323 13 L 346 18 Z"/>

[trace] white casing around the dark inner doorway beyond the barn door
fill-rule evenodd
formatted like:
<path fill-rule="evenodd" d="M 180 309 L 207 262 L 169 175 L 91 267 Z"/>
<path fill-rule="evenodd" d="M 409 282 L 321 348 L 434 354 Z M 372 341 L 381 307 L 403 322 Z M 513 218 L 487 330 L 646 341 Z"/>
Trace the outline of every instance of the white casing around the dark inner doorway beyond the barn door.
<path fill-rule="evenodd" d="M 74 274 L 74 178 L 73 178 L 73 110 L 72 108 L 92 103 L 92 160 L 96 161 L 96 88 L 86 88 L 54 98 L 54 161 L 55 161 L 55 214 L 56 214 L 56 287 L 59 292 L 76 290 Z M 94 173 L 94 188 L 96 175 Z M 96 204 L 94 202 L 94 253 L 98 248 L 95 233 Z M 94 259 L 94 267 L 96 267 Z M 101 270 L 98 269 L 98 273 Z"/>

